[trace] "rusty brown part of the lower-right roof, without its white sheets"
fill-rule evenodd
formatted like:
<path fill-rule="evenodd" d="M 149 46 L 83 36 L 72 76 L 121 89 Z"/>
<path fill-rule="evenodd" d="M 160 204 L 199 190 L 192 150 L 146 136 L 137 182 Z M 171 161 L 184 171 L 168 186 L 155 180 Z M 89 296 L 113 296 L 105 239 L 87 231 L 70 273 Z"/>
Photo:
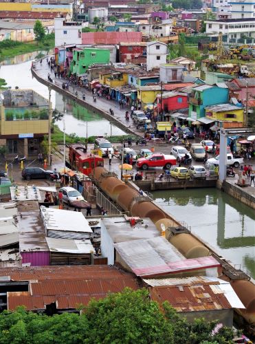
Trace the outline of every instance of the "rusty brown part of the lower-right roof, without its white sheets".
<path fill-rule="evenodd" d="M 151 298 L 159 303 L 168 301 L 177 312 L 226 310 L 232 308 L 222 290 L 208 284 L 199 286 L 151 287 Z"/>

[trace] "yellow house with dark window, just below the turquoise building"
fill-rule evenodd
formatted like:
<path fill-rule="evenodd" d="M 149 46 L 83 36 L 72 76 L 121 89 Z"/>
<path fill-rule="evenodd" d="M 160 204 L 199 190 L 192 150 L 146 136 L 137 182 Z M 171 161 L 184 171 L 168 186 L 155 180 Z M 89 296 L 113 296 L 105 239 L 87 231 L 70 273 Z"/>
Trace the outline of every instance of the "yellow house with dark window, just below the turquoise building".
<path fill-rule="evenodd" d="M 244 109 L 233 104 L 218 104 L 206 107 L 206 117 L 223 122 L 219 127 L 243 127 Z"/>

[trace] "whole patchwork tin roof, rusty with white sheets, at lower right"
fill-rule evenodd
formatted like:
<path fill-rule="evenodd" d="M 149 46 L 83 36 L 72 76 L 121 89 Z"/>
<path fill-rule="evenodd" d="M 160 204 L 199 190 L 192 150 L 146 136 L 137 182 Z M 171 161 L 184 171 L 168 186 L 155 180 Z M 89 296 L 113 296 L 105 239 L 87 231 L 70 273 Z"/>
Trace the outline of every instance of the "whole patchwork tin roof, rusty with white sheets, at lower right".
<path fill-rule="evenodd" d="M 177 312 L 245 308 L 228 281 L 217 277 L 144 279 L 151 298 L 169 301 Z"/>

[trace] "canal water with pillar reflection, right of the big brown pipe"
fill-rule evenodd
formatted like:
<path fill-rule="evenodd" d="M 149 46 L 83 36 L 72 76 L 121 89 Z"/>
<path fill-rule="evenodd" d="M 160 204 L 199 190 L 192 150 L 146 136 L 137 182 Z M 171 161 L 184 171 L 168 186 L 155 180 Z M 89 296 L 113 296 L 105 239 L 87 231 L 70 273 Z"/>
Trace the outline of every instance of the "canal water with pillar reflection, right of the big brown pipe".
<path fill-rule="evenodd" d="M 255 279 L 255 212 L 218 189 L 153 192 L 155 202 L 177 220 L 191 226 L 236 268 Z"/>

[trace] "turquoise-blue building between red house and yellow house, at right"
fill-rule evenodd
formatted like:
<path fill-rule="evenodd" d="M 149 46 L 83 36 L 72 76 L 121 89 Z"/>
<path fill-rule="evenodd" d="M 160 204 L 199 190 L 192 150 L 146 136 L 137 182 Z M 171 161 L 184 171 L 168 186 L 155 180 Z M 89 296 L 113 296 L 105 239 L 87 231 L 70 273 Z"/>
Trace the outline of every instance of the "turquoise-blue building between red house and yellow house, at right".
<path fill-rule="evenodd" d="M 205 108 L 210 105 L 228 103 L 228 87 L 201 85 L 192 87 L 189 98 L 188 118 L 198 120 L 206 116 Z"/>

